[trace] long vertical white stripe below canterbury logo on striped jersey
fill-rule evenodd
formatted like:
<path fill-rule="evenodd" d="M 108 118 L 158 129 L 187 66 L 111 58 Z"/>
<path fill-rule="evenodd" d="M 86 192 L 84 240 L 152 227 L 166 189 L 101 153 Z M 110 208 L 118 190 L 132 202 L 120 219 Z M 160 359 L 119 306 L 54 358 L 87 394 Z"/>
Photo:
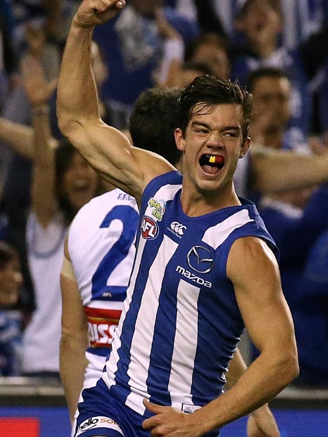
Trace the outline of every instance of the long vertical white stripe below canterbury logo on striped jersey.
<path fill-rule="evenodd" d="M 158 298 L 165 273 L 165 266 L 172 258 L 178 246 L 178 243 L 171 240 L 171 238 L 166 235 L 163 236 L 163 241 L 149 269 L 147 283 L 135 324 L 131 344 L 131 361 L 127 372 L 130 376 L 129 386 L 131 387 L 131 393 L 127 397 L 125 404 L 139 414 L 143 414 L 145 411 L 142 399 L 145 397 L 149 398 L 146 380 L 148 377 Z"/>

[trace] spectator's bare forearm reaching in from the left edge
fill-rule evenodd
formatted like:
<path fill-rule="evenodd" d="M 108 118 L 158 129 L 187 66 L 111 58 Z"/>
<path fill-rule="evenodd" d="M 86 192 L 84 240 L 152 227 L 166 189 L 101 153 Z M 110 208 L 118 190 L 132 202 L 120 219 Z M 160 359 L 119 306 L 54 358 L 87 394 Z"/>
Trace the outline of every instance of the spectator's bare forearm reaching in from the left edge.
<path fill-rule="evenodd" d="M 0 117 L 0 138 L 10 144 L 14 152 L 33 159 L 33 129 Z"/>

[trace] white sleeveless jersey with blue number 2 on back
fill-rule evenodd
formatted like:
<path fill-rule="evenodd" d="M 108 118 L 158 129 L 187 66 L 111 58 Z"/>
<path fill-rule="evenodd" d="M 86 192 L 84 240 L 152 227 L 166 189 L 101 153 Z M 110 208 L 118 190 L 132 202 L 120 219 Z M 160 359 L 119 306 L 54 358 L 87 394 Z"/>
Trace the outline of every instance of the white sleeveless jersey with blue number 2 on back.
<path fill-rule="evenodd" d="M 68 250 L 88 319 L 87 352 L 93 355 L 106 356 L 111 348 L 132 269 L 138 219 L 135 199 L 115 189 L 84 205 L 70 227 Z M 102 369 L 104 360 L 98 361 Z"/>

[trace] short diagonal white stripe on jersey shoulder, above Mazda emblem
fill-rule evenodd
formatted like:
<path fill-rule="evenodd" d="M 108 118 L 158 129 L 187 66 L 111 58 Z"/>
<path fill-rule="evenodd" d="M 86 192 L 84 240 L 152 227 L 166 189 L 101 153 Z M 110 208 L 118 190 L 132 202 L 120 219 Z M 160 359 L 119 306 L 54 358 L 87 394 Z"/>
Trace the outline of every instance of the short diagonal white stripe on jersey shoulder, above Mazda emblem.
<path fill-rule="evenodd" d="M 248 209 L 242 209 L 223 222 L 208 228 L 203 235 L 202 241 L 216 250 L 235 229 L 244 226 L 248 222 L 254 222 L 254 220 L 250 218 Z"/>

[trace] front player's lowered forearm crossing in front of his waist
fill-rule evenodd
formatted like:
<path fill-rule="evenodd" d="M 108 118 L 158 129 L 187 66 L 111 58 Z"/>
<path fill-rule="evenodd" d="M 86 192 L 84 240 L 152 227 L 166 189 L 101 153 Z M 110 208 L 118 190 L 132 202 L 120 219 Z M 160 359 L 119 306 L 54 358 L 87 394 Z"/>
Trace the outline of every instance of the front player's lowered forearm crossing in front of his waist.
<path fill-rule="evenodd" d="M 293 356 L 282 360 L 261 354 L 231 390 L 193 413 L 195 422 L 205 433 L 256 410 L 291 382 L 295 368 Z"/>

